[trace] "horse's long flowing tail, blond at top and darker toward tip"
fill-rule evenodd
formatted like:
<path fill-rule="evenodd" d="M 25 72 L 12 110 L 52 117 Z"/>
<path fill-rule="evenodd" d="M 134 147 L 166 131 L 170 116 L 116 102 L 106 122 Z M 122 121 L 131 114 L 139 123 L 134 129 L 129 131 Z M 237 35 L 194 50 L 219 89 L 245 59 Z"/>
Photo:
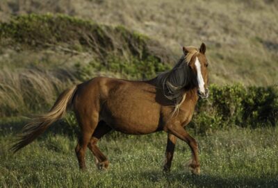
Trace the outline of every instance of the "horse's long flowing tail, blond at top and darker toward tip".
<path fill-rule="evenodd" d="M 47 114 L 42 114 L 31 119 L 31 121 L 24 126 L 22 135 L 19 137 L 18 142 L 11 147 L 11 150 L 14 153 L 19 151 L 19 149 L 27 146 L 39 135 L 44 133 L 52 123 L 61 119 L 65 115 L 67 107 L 72 104 L 76 89 L 77 86 L 74 86 L 71 89 L 65 90 L 58 96 L 58 99 Z"/>

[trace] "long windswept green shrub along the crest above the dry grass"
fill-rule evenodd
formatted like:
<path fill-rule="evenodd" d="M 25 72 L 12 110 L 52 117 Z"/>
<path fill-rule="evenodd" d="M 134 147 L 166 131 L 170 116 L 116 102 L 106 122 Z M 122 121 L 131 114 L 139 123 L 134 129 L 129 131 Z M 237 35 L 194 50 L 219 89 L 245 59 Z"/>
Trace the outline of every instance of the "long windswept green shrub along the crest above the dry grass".
<path fill-rule="evenodd" d="M 60 45 L 74 51 L 89 51 L 104 65 L 111 55 L 124 60 L 147 60 L 149 56 L 163 63 L 173 60 L 172 51 L 124 26 L 106 26 L 67 15 L 30 14 L 13 17 L 8 23 L 0 22 L 0 42 L 1 46 L 23 45 L 22 49 Z"/>

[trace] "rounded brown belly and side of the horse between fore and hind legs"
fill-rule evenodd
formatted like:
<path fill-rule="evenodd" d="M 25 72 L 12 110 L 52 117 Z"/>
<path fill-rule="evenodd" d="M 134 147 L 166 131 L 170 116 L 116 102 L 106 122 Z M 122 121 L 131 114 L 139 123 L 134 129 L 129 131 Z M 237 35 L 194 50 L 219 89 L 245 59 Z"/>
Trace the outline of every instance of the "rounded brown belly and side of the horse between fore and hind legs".
<path fill-rule="evenodd" d="M 161 105 L 155 88 L 144 83 L 122 83 L 113 87 L 103 106 L 104 121 L 126 134 L 148 134 L 160 130 Z"/>

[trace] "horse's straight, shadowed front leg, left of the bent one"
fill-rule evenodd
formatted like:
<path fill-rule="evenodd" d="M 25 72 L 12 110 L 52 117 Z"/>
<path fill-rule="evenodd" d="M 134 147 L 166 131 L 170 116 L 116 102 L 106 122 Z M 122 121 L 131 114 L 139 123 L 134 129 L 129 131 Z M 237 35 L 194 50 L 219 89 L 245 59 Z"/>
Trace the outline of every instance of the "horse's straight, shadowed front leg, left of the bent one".
<path fill-rule="evenodd" d="M 177 137 L 168 133 L 167 146 L 165 151 L 165 163 L 163 166 L 163 171 L 170 172 L 172 159 L 174 157 L 174 146 L 176 145 Z"/>

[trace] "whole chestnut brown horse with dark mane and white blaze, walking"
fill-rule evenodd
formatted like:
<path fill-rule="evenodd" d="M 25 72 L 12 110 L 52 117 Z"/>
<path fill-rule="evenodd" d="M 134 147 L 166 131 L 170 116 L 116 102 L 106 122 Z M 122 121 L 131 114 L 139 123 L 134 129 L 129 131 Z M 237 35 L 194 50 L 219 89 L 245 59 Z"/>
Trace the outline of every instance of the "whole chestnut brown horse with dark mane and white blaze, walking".
<path fill-rule="evenodd" d="M 178 137 L 190 146 L 193 159 L 188 166 L 199 174 L 197 142 L 183 127 L 193 117 L 199 96 L 208 97 L 205 52 L 205 44 L 199 49 L 183 47 L 183 55 L 174 68 L 152 80 L 97 77 L 65 90 L 47 114 L 35 117 L 24 127 L 13 151 L 33 142 L 72 107 L 81 128 L 75 148 L 80 169 L 85 169 L 87 147 L 95 155 L 99 169 L 108 167 L 108 159 L 97 147 L 97 141 L 113 129 L 131 135 L 164 130 L 168 133 L 164 171 L 170 171 Z"/>

